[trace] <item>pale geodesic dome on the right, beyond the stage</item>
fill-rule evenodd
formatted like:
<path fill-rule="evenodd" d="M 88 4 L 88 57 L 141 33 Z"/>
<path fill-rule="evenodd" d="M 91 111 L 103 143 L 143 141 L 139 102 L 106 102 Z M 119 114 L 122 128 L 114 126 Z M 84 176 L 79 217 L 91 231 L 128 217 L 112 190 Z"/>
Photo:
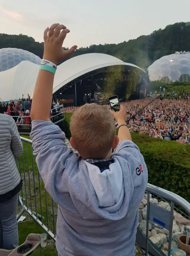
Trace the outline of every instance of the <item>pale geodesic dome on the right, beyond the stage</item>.
<path fill-rule="evenodd" d="M 148 67 L 148 75 L 150 81 L 179 81 L 181 75 L 190 75 L 190 53 L 163 56 Z"/>

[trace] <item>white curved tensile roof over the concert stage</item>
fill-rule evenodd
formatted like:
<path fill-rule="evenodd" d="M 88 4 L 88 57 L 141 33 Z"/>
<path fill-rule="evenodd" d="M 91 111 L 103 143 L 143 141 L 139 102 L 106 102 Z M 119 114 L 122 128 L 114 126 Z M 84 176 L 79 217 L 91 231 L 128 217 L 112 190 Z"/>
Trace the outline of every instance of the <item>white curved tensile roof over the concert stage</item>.
<path fill-rule="evenodd" d="M 114 65 L 136 65 L 125 63 L 118 58 L 102 53 L 88 53 L 73 57 L 57 67 L 53 93 L 72 80 L 93 70 Z M 140 69 L 140 68 L 139 68 Z M 22 61 L 17 66 L 0 72 L 0 97 L 2 101 L 18 99 L 24 94 L 32 97 L 39 72 L 39 65 Z"/>

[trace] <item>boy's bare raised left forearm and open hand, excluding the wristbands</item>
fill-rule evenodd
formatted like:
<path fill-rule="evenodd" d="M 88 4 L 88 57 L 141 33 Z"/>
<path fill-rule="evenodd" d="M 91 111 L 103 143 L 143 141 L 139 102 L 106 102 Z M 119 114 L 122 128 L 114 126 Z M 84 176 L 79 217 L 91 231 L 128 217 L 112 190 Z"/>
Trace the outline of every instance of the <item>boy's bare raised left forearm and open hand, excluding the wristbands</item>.
<path fill-rule="evenodd" d="M 57 65 L 57 63 L 71 55 L 77 46 L 64 50 L 62 45 L 69 33 L 64 25 L 53 24 L 44 31 L 44 55 L 43 59 Z M 52 104 L 54 73 L 47 70 L 39 70 L 34 94 L 32 98 L 31 120 L 50 121 L 50 110 Z"/>

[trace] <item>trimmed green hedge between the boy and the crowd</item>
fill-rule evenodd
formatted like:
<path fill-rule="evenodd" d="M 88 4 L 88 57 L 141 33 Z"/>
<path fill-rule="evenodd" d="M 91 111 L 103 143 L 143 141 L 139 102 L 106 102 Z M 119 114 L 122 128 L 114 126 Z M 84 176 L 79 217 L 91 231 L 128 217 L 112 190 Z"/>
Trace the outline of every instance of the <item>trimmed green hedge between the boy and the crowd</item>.
<path fill-rule="evenodd" d="M 70 138 L 66 113 L 65 132 Z M 190 146 L 164 141 L 132 132 L 132 140 L 140 148 L 148 167 L 148 182 L 172 191 L 190 201 Z"/>

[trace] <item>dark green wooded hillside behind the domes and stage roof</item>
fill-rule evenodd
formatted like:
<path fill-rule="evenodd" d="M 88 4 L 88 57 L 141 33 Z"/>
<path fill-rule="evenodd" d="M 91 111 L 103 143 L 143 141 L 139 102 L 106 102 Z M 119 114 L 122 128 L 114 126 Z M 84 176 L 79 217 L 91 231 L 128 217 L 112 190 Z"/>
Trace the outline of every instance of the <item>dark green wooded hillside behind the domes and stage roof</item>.
<path fill-rule="evenodd" d="M 190 51 L 189 41 L 189 23 L 179 22 L 128 42 L 81 47 L 72 57 L 86 53 L 105 53 L 146 69 L 153 61 L 164 55 L 175 53 L 175 51 Z M 0 34 L 0 49 L 7 47 L 28 50 L 40 58 L 43 56 L 43 43 L 36 42 L 34 38 L 26 35 Z"/>

